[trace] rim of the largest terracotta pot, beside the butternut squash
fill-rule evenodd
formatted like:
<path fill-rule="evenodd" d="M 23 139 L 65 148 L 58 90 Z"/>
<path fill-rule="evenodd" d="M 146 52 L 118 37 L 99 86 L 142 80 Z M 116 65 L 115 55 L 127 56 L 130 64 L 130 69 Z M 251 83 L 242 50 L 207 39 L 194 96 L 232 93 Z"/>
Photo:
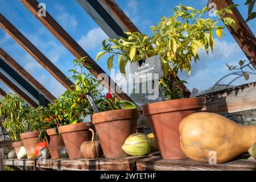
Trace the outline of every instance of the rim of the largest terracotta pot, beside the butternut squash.
<path fill-rule="evenodd" d="M 168 113 L 172 111 L 197 109 L 203 107 L 203 98 L 181 98 L 170 101 L 160 101 L 151 104 L 143 105 L 142 110 L 144 115 Z"/>

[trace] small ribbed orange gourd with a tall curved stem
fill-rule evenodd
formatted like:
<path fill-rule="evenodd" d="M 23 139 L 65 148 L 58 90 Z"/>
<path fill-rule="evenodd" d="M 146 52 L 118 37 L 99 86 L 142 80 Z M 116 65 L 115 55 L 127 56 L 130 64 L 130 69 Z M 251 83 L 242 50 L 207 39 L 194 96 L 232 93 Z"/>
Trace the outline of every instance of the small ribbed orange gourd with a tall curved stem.
<path fill-rule="evenodd" d="M 102 150 L 99 141 L 95 141 L 95 132 L 93 129 L 88 129 L 92 131 L 92 140 L 85 141 L 80 146 L 80 152 L 84 158 L 96 159 L 102 156 Z"/>

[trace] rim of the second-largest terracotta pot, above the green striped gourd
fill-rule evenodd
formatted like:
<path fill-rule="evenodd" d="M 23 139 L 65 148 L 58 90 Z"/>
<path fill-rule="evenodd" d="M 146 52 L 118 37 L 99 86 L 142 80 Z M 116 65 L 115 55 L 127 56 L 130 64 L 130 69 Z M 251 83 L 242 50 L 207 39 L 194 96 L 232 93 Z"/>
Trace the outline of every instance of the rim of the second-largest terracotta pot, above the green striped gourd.
<path fill-rule="evenodd" d="M 101 113 L 95 113 L 92 115 L 93 125 L 102 122 L 118 121 L 125 119 L 138 119 L 138 109 L 117 109 L 109 110 Z"/>

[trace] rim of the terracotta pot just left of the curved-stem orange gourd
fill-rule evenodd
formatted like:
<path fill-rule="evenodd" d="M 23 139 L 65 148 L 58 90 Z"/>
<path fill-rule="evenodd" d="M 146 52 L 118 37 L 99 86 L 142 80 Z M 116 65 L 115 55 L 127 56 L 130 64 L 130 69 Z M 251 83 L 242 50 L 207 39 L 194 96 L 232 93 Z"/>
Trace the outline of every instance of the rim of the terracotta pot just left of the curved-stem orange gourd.
<path fill-rule="evenodd" d="M 90 128 L 90 122 L 82 122 L 76 124 L 69 124 L 59 127 L 60 134 L 69 133 L 74 131 L 88 130 Z"/>

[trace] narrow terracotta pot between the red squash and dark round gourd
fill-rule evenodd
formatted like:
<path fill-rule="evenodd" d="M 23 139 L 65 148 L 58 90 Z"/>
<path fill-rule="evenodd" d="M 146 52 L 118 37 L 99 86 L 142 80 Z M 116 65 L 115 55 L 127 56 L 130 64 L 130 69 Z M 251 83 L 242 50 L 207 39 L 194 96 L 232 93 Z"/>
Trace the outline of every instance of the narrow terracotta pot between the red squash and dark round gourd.
<path fill-rule="evenodd" d="M 49 153 L 51 154 L 52 159 L 60 159 L 59 150 L 61 146 L 64 146 L 63 138 L 61 135 L 57 135 L 56 128 L 54 129 L 47 129 L 47 134 L 49 135 L 49 139 L 46 138 Z"/>

